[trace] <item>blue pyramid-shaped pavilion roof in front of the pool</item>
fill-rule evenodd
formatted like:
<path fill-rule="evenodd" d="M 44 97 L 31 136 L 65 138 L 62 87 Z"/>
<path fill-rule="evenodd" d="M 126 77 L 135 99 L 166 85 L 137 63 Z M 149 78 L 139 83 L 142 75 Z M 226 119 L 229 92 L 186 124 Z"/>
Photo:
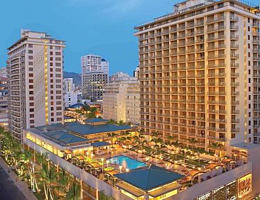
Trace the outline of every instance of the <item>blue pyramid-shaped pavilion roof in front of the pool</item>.
<path fill-rule="evenodd" d="M 114 176 L 143 191 L 161 187 L 184 177 L 181 174 L 157 167 L 156 165 L 137 168 L 126 173 L 114 174 Z"/>

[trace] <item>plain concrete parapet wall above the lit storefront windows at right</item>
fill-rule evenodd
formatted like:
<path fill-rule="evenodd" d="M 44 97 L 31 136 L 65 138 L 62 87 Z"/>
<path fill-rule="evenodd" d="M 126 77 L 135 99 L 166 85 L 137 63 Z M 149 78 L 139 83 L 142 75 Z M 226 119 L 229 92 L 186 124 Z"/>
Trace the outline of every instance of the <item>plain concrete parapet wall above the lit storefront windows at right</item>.
<path fill-rule="evenodd" d="M 212 191 L 213 189 L 216 189 L 217 187 L 232 182 L 232 180 L 238 179 L 239 177 L 242 177 L 243 175 L 250 172 L 252 172 L 252 165 L 251 163 L 248 163 L 237 167 L 234 170 L 225 172 L 224 174 L 220 174 L 217 177 L 207 179 L 207 181 L 197 183 L 193 185 L 193 187 L 190 187 L 185 191 L 181 191 L 170 199 L 195 199 L 202 194 L 205 194 L 209 191 Z"/>

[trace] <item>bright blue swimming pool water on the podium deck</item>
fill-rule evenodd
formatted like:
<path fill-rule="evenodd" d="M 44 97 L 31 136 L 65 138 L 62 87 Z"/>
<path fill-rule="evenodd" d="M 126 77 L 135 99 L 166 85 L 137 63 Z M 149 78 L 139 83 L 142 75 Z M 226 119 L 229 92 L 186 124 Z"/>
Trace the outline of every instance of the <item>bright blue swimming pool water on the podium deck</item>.
<path fill-rule="evenodd" d="M 118 155 L 115 157 L 110 157 L 110 163 L 117 164 L 123 166 L 125 169 L 128 168 L 129 170 L 134 170 L 138 167 L 146 166 L 146 163 L 140 162 L 138 160 L 131 159 L 130 157 L 126 157 L 124 155 Z"/>

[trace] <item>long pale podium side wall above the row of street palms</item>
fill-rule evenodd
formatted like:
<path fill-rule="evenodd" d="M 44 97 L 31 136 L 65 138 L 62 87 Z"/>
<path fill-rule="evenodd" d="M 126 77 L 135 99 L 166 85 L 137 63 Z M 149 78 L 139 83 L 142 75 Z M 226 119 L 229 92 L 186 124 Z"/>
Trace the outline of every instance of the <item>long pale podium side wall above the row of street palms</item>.
<path fill-rule="evenodd" d="M 28 145 L 29 141 L 30 140 L 28 140 L 27 138 L 23 138 L 24 144 Z M 100 179 L 97 179 L 92 174 L 89 174 L 84 170 L 81 170 L 79 167 L 76 167 L 72 163 L 67 162 L 63 158 L 58 157 L 57 155 L 53 154 L 52 152 L 49 152 L 48 150 L 45 150 L 44 148 L 41 148 L 39 145 L 35 144 L 35 148 L 38 152 L 48 152 L 49 159 L 52 162 L 58 164 L 67 172 L 70 172 L 70 174 L 73 174 L 73 176 L 77 177 L 78 179 L 81 179 L 83 182 L 90 185 L 94 189 L 97 189 L 98 191 L 104 191 L 104 194 L 108 196 L 113 196 L 115 199 L 130 200 L 128 196 L 122 194 L 118 189 L 112 187 L 111 185 L 103 182 Z"/>

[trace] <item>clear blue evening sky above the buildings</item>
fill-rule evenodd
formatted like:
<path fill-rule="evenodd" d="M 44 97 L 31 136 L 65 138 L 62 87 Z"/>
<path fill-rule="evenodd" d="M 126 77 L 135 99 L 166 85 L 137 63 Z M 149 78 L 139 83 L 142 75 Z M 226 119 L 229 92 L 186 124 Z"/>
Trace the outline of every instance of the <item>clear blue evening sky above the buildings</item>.
<path fill-rule="evenodd" d="M 81 72 L 80 57 L 101 55 L 109 74 L 133 74 L 138 61 L 134 26 L 173 11 L 177 0 L 12 0 L 0 1 L 0 67 L 6 48 L 21 28 L 43 31 L 65 40 L 65 71 Z M 251 0 L 259 4 L 259 0 Z"/>

